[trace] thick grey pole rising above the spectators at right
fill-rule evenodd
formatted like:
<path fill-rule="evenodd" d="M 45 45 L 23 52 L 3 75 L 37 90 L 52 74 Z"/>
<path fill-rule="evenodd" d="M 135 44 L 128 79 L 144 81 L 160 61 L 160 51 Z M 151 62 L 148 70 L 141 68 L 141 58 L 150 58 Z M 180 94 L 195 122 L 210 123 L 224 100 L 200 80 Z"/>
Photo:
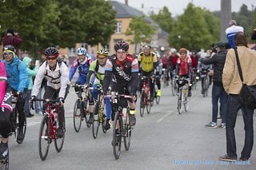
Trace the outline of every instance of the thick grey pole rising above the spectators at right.
<path fill-rule="evenodd" d="M 220 0 L 221 1 L 221 41 L 227 42 L 225 30 L 231 20 L 231 0 Z"/>

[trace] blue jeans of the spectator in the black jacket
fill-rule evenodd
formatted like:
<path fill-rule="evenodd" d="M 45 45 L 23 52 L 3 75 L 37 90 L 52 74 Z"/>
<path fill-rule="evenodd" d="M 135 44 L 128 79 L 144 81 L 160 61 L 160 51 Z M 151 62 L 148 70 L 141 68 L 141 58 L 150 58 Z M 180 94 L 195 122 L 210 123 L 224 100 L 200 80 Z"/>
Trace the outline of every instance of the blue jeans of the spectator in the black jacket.
<path fill-rule="evenodd" d="M 218 99 L 220 100 L 220 114 L 222 115 L 222 123 L 226 123 L 226 107 L 228 95 L 224 88 L 219 85 L 213 85 L 212 89 L 212 122 L 217 123 L 218 117 Z"/>

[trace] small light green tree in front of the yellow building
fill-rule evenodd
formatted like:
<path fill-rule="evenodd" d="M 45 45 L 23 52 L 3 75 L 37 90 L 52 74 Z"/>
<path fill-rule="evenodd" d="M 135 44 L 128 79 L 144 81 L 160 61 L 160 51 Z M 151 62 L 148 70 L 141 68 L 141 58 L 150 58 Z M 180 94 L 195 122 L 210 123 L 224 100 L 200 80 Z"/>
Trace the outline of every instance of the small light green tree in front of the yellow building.
<path fill-rule="evenodd" d="M 151 26 L 149 22 L 145 21 L 144 16 L 141 16 L 132 19 L 126 30 L 126 36 L 132 37 L 129 42 L 134 44 L 135 49 L 137 49 L 137 45 L 142 42 L 150 43 L 154 32 L 154 26 Z"/>

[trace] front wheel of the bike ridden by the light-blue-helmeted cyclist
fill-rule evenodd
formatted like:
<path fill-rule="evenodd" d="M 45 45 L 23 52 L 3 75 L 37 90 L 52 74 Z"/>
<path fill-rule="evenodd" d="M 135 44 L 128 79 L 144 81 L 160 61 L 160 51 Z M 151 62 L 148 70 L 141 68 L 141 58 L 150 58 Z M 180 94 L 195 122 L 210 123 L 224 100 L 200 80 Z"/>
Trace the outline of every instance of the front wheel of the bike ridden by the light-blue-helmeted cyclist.
<path fill-rule="evenodd" d="M 73 114 L 73 122 L 74 122 L 74 131 L 79 132 L 82 124 L 82 115 L 81 115 L 81 101 L 78 99 L 74 103 L 74 114 Z"/>

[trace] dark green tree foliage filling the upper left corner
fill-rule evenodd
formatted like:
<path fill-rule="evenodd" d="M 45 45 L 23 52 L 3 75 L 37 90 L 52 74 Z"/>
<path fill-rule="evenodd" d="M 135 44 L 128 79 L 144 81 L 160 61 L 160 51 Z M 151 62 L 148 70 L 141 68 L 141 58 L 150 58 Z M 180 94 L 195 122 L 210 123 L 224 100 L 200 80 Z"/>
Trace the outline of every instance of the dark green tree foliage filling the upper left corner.
<path fill-rule="evenodd" d="M 105 0 L 0 1 L 3 34 L 10 27 L 23 39 L 21 49 L 34 56 L 47 46 L 77 42 L 106 45 L 115 28 L 115 11 Z"/>

